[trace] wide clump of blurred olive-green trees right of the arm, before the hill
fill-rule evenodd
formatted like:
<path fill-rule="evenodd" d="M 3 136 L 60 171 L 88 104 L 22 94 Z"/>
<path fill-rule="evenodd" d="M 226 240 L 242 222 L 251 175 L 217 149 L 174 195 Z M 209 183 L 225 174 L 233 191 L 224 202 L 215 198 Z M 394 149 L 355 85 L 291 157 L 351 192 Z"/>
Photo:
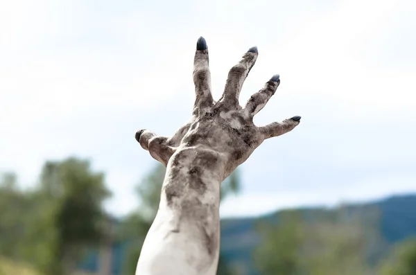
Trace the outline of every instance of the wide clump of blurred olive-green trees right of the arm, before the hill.
<path fill-rule="evenodd" d="M 308 214 L 306 217 L 306 213 Z M 281 211 L 259 227 L 254 262 L 261 274 L 369 274 L 380 251 L 376 209 Z"/>

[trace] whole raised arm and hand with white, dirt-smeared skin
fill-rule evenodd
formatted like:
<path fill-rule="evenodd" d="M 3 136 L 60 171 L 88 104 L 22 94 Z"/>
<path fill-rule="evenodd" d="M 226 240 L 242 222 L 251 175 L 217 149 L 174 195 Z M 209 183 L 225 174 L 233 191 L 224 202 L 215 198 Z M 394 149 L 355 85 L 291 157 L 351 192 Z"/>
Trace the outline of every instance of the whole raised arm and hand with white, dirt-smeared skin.
<path fill-rule="evenodd" d="M 191 121 L 170 138 L 139 130 L 136 139 L 164 163 L 166 176 L 156 218 L 148 231 L 136 275 L 214 275 L 220 248 L 220 182 L 265 139 L 285 134 L 300 116 L 263 127 L 253 117 L 279 86 L 279 75 L 253 94 L 245 107 L 239 94 L 257 59 L 250 48 L 229 71 L 223 96 L 214 102 L 207 42 L 200 37 L 193 62 L 196 100 Z"/>

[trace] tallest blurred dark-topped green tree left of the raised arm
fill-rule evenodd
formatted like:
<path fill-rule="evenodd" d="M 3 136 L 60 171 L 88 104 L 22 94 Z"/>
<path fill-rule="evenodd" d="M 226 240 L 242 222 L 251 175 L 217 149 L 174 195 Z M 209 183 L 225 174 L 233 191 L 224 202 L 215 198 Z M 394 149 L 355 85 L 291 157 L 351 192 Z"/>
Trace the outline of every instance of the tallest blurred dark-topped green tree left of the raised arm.
<path fill-rule="evenodd" d="M 104 175 L 92 171 L 86 160 L 48 161 L 38 187 L 26 254 L 46 275 L 70 274 L 103 236 L 102 203 L 110 195 Z"/>

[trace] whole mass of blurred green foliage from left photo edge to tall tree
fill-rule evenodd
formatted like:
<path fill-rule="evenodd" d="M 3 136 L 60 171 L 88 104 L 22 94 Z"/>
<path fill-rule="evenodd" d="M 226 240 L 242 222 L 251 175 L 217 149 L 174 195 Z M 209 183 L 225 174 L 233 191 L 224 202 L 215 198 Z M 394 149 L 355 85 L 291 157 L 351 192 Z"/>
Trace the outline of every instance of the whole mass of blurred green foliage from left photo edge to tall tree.
<path fill-rule="evenodd" d="M 35 190 L 19 190 L 16 177 L 0 186 L 0 251 L 31 263 L 42 274 L 69 274 L 87 247 L 102 237 L 104 175 L 89 161 L 48 161 Z"/>

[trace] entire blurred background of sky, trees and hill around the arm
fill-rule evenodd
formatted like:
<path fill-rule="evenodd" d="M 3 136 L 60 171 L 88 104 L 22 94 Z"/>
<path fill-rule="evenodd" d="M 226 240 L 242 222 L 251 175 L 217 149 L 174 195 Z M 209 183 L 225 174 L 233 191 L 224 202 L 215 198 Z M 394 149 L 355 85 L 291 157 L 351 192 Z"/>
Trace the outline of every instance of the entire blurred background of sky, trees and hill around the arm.
<path fill-rule="evenodd" d="M 189 120 L 251 46 L 254 122 L 300 115 L 222 184 L 218 275 L 416 274 L 416 2 L 0 1 L 0 274 L 131 275 L 164 167 L 136 130 Z"/>

